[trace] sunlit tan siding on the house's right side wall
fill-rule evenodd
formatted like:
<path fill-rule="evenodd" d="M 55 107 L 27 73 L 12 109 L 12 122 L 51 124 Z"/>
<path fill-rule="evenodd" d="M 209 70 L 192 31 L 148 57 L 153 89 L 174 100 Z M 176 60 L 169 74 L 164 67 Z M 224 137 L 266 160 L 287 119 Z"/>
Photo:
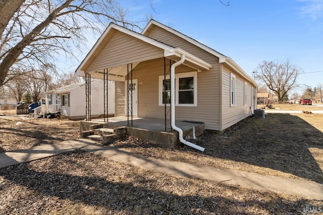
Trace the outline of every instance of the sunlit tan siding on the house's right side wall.
<path fill-rule="evenodd" d="M 238 121 L 250 115 L 251 107 L 251 85 L 248 83 L 247 105 L 244 105 L 244 82 L 240 76 L 236 76 L 236 106 L 230 107 L 230 73 L 232 71 L 223 67 L 223 88 L 222 88 L 222 130 L 234 125 Z M 249 92 L 250 91 L 250 92 Z"/>

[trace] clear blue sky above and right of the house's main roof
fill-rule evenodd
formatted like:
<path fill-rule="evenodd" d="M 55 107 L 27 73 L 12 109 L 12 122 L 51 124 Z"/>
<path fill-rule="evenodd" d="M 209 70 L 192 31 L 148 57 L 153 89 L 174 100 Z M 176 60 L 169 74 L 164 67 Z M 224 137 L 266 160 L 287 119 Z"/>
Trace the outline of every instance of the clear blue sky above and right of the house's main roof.
<path fill-rule="evenodd" d="M 229 7 L 217 0 L 151 1 L 154 11 L 149 0 L 121 4 L 129 20 L 151 14 L 231 57 L 250 76 L 263 60 L 290 59 L 306 73 L 298 80 L 303 88 L 323 84 L 323 0 L 231 0 Z"/>

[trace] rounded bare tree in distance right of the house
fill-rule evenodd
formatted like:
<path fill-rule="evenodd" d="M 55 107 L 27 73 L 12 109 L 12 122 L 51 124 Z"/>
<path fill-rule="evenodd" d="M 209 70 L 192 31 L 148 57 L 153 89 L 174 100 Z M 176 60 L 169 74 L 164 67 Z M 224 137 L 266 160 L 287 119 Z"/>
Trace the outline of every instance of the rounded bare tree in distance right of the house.
<path fill-rule="evenodd" d="M 255 79 L 263 82 L 281 102 L 290 90 L 297 87 L 296 80 L 299 74 L 300 69 L 288 59 L 282 63 L 264 60 L 255 71 Z"/>

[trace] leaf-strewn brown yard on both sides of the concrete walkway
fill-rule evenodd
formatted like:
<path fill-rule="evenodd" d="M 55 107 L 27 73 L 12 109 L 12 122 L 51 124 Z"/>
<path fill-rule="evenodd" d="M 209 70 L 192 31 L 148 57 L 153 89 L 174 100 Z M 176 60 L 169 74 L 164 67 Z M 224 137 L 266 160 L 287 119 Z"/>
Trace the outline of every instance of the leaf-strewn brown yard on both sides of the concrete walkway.
<path fill-rule="evenodd" d="M 323 114 L 267 114 L 221 135 L 206 131 L 192 139 L 205 153 L 131 136 L 113 146 L 145 157 L 323 183 L 322 132 Z M 0 133 L 3 151 L 25 149 L 77 138 L 79 122 L 0 117 Z M 82 151 L 0 170 L 0 214 L 301 214 L 305 206 L 319 208 L 323 201 L 154 173 Z"/>

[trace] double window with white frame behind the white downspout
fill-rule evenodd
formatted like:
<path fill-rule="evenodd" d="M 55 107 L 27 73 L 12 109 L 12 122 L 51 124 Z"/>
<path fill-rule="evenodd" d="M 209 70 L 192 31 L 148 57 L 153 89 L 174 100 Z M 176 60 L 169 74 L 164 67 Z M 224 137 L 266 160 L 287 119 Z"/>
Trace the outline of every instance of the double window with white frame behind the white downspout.
<path fill-rule="evenodd" d="M 175 104 L 176 106 L 197 106 L 197 73 L 175 74 Z M 159 106 L 171 103 L 170 76 L 159 76 Z"/>

